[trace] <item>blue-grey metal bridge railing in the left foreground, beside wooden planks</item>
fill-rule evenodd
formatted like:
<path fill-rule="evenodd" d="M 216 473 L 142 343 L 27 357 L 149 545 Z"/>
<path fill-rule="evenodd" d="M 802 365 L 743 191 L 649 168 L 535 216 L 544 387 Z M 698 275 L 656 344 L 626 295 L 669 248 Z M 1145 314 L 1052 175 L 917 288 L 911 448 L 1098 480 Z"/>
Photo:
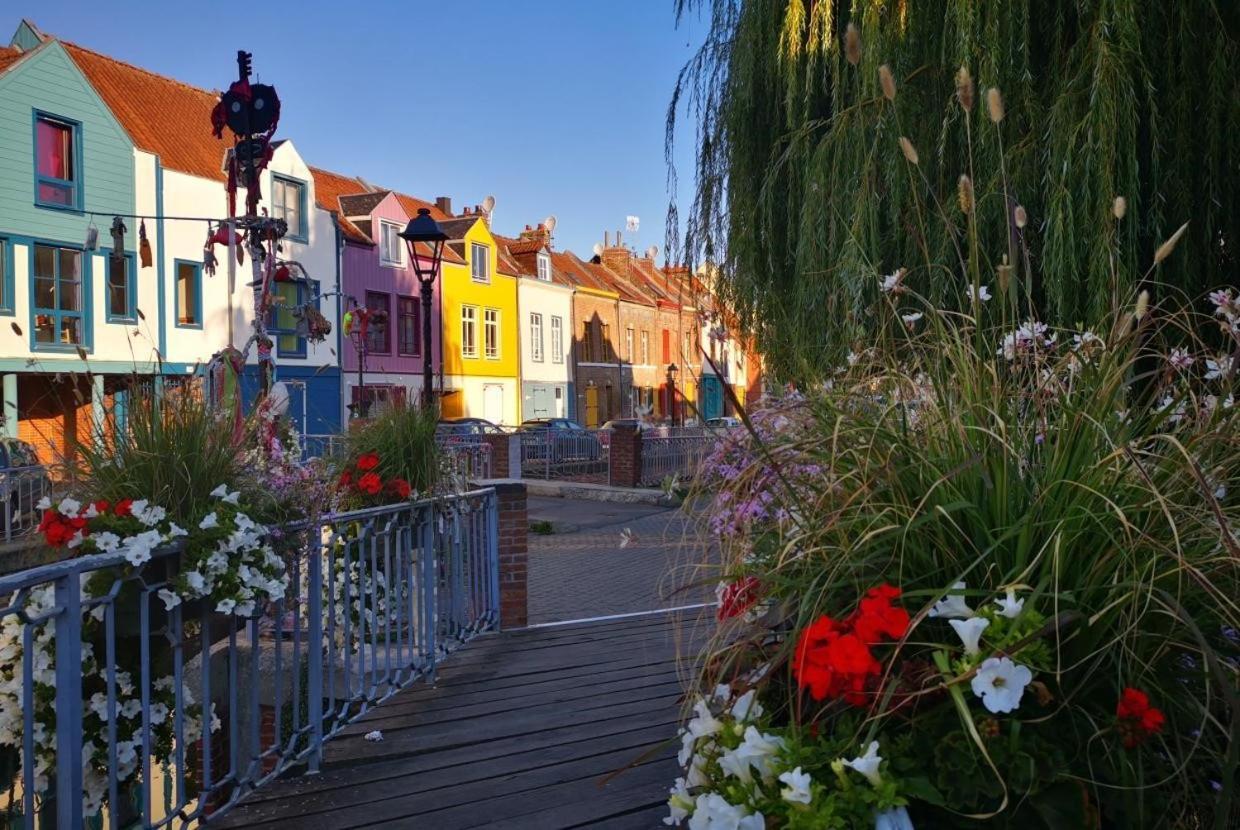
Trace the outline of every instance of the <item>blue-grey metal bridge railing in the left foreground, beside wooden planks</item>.
<path fill-rule="evenodd" d="M 316 772 L 325 741 L 498 625 L 494 490 L 272 537 L 290 587 L 244 620 L 201 600 L 165 610 L 177 550 L 136 569 L 115 553 L 0 577 L 0 630 L 21 644 L 0 651 L 17 677 L 0 692 L 21 701 L 0 718 L 0 824 L 82 828 L 94 788 L 102 826 L 193 826 L 294 764 Z M 217 731 L 201 726 L 212 717 Z"/>

